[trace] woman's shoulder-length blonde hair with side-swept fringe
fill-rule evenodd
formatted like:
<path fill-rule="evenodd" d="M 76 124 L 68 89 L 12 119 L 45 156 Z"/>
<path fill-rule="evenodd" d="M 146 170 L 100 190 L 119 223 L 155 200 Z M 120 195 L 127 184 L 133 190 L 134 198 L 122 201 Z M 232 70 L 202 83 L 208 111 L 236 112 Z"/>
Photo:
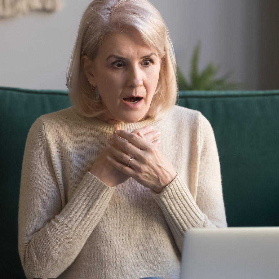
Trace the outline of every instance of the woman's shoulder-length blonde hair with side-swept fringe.
<path fill-rule="evenodd" d="M 93 61 L 108 33 L 125 32 L 129 27 L 135 28 L 161 58 L 159 80 L 147 116 L 161 117 L 175 105 L 178 91 L 175 55 L 157 9 L 147 0 L 94 0 L 82 15 L 67 77 L 71 103 L 82 115 L 96 117 L 103 113 L 98 91 L 91 89 L 82 68 L 82 55 Z"/>

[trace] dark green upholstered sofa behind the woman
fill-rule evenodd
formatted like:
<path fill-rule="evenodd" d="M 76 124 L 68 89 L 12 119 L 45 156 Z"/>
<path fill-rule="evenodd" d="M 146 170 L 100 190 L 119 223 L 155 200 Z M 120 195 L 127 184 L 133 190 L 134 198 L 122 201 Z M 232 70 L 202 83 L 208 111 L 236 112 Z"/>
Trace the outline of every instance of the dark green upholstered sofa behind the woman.
<path fill-rule="evenodd" d="M 40 115 L 70 105 L 65 91 L 0 87 L 3 278 L 25 278 L 17 214 L 27 133 Z M 201 111 L 214 129 L 228 226 L 278 226 L 279 90 L 181 91 L 179 105 Z"/>

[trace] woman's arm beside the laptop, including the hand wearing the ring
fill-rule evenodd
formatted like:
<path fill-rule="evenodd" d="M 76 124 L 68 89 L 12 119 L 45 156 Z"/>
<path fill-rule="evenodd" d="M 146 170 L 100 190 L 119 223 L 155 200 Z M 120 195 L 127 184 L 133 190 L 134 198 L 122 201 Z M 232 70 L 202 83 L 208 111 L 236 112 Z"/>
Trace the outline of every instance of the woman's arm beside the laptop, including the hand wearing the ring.
<path fill-rule="evenodd" d="M 123 163 L 112 158 L 108 160 L 118 170 L 151 189 L 180 251 L 184 233 L 188 228 L 227 225 L 215 137 L 210 123 L 201 114 L 198 116 L 197 127 L 197 167 L 191 174 L 196 177 L 193 193 L 189 191 L 180 175 L 176 176 L 172 164 L 158 149 L 144 143 L 142 137 L 136 138 L 136 135 L 125 131 L 119 131 L 118 135 L 138 148 L 135 149 L 133 145 L 114 136 L 113 142 L 118 149 L 111 146 L 110 150 Z M 132 168 L 127 167 L 129 158 L 121 151 L 127 149 L 136 158 L 132 159 Z"/>

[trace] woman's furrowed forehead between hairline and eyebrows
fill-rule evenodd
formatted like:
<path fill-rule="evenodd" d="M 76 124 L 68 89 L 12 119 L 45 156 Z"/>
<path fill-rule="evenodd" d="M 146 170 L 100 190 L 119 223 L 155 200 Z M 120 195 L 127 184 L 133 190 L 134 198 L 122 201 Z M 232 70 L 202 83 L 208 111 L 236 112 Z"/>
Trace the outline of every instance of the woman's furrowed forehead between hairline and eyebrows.
<path fill-rule="evenodd" d="M 97 56 L 117 55 L 123 57 L 142 57 L 157 51 L 149 47 L 136 30 L 110 33 L 104 37 Z M 158 55 L 157 55 L 158 56 Z"/>

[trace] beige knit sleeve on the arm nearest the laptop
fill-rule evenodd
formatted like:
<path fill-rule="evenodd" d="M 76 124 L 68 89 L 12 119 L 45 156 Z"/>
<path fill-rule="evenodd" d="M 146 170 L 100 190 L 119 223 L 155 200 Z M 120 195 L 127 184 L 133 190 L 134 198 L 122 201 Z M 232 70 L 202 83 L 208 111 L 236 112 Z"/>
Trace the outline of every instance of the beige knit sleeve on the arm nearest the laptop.
<path fill-rule="evenodd" d="M 205 117 L 199 114 L 198 120 L 195 195 L 190 193 L 179 174 L 161 193 L 151 191 L 164 213 L 180 252 L 182 252 L 184 234 L 189 228 L 227 227 L 214 133 Z"/>

